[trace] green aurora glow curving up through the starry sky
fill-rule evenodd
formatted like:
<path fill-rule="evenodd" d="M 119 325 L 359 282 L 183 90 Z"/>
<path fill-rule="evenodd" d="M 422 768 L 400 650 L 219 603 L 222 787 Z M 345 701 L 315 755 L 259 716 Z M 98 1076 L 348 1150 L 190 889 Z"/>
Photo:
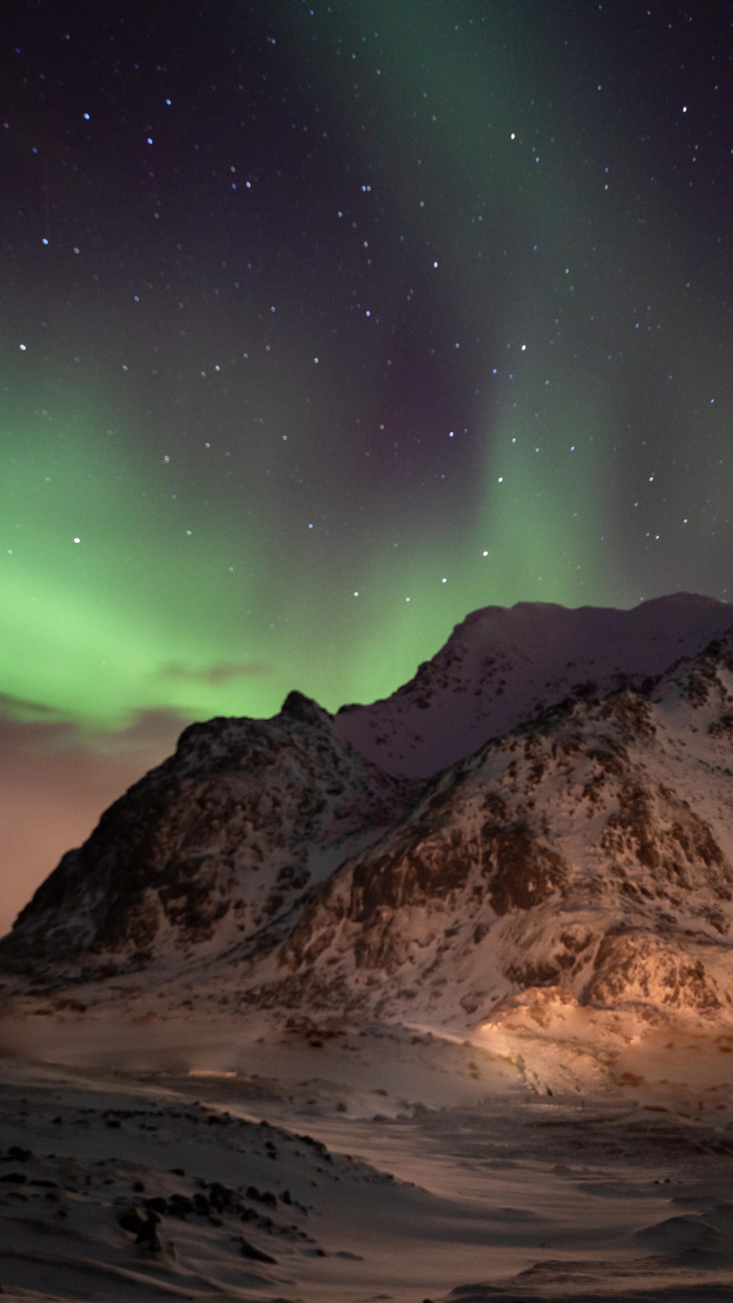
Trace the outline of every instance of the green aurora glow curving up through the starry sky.
<path fill-rule="evenodd" d="M 185 718 L 270 715 L 291 688 L 335 710 L 394 691 L 476 607 L 631 605 L 689 577 L 689 568 L 677 566 L 650 572 L 640 588 L 629 538 L 633 503 L 651 481 L 643 468 L 622 487 L 618 470 L 642 388 L 661 384 L 670 356 L 685 366 L 683 332 L 696 331 L 700 357 L 711 356 L 704 302 L 668 322 L 665 358 L 653 354 L 653 335 L 631 336 L 629 344 L 625 334 L 621 265 L 625 280 L 639 287 L 639 313 L 648 297 L 655 323 L 665 313 L 670 318 L 672 281 L 687 275 L 683 235 L 669 218 L 672 249 L 630 244 L 618 207 L 609 207 L 622 201 L 603 193 L 600 155 L 609 154 L 608 142 L 596 133 L 593 156 L 592 132 L 578 138 L 563 52 L 537 61 L 527 10 L 518 30 L 511 7 L 486 9 L 477 55 L 471 7 L 460 9 L 460 31 L 449 48 L 441 5 L 424 7 L 417 31 L 408 5 L 372 5 L 364 30 L 380 33 L 389 72 L 369 91 L 368 112 L 352 91 L 355 76 L 365 78 L 361 66 L 355 74 L 330 47 L 326 59 L 323 42 L 312 50 L 305 38 L 299 44 L 295 20 L 288 47 L 292 76 L 312 77 L 323 120 L 338 116 L 348 125 L 352 175 L 359 158 L 366 169 L 378 155 L 389 195 L 380 240 L 399 248 L 404 233 L 421 250 L 421 310 L 440 323 L 443 353 L 453 339 L 463 345 L 460 362 L 451 365 L 460 366 L 462 391 L 471 395 L 471 451 L 458 451 L 456 430 L 446 452 L 456 485 L 450 508 L 438 498 L 449 490 L 428 485 L 420 496 L 417 474 L 410 493 L 391 486 L 383 457 L 386 487 L 377 494 L 364 481 L 369 444 L 343 433 L 342 413 L 373 405 L 373 373 L 361 377 L 360 358 L 352 375 L 329 371 L 316 330 L 308 335 L 304 327 L 297 341 L 283 335 L 271 357 L 261 348 L 252 366 L 270 434 L 265 442 L 239 434 L 239 413 L 223 407 L 215 469 L 214 452 L 206 460 L 198 444 L 176 443 L 164 399 L 151 404 L 143 437 L 138 412 L 147 397 L 140 407 L 130 399 L 134 382 L 120 379 L 119 351 L 94 380 L 74 373 L 72 387 L 60 361 L 46 365 L 29 345 L 8 364 L 12 399 L 0 410 L 0 687 L 9 713 L 68 718 L 90 730 L 119 728 L 136 711 L 159 708 Z M 282 22 L 287 29 L 286 9 Z M 535 100 L 552 102 L 552 138 L 573 147 L 556 149 L 550 128 L 535 132 Z M 633 168 L 631 146 L 614 149 L 617 171 Z M 590 163 L 579 164 L 586 152 Z M 596 248 L 603 257 L 593 266 Z M 489 255 L 490 279 L 483 271 Z M 386 281 L 382 297 L 389 293 Z M 604 326 L 591 326 L 603 311 Z M 227 337 L 226 323 L 210 330 Z M 270 337 L 254 309 L 237 324 L 247 330 Z M 21 337 L 22 331 L 20 324 Z M 497 365 L 506 369 L 505 341 L 519 357 L 516 380 L 498 390 L 492 377 Z M 621 394 L 606 356 L 625 351 Z M 317 384 L 314 353 L 322 356 Z M 382 353 L 380 345 L 380 375 L 386 375 Z M 192 369 L 180 340 L 168 352 L 171 374 L 179 366 Z M 690 367 L 683 401 L 659 388 L 653 401 L 670 460 L 682 459 L 698 420 L 693 413 L 708 403 L 716 380 L 711 362 L 707 373 Z M 299 452 L 299 437 L 307 437 L 304 384 L 321 434 L 318 447 Z M 142 379 L 140 386 L 142 394 Z M 391 391 L 383 392 L 387 401 Z M 706 426 L 706 439 L 723 437 Z M 447 431 L 440 438 L 447 440 Z M 232 448 L 231 481 L 223 478 L 224 444 L 227 457 Z M 320 466 L 321 496 L 310 512 L 283 461 L 299 456 Z M 258 487 L 271 466 L 278 500 L 265 500 Z M 689 481 L 682 465 L 668 480 L 665 511 L 676 521 Z M 364 504 L 366 523 L 356 530 Z M 704 549 L 700 556 L 704 569 Z"/>

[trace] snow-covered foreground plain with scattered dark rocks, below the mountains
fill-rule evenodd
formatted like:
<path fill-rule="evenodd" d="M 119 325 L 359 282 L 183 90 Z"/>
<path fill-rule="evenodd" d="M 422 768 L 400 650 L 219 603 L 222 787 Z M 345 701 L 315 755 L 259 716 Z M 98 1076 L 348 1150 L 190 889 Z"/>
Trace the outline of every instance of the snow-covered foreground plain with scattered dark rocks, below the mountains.
<path fill-rule="evenodd" d="M 729 1042 L 550 1096 L 516 1036 L 0 1024 L 3 1296 L 733 1299 Z"/>

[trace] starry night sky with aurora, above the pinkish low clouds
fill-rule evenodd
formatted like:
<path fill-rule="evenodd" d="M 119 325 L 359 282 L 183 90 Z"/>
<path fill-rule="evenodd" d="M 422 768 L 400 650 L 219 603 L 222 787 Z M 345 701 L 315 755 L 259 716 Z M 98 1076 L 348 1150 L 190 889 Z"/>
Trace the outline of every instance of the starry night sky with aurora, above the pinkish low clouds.
<path fill-rule="evenodd" d="M 726 598 L 732 23 L 4 7 L 5 714 L 335 709 L 488 603 Z"/>

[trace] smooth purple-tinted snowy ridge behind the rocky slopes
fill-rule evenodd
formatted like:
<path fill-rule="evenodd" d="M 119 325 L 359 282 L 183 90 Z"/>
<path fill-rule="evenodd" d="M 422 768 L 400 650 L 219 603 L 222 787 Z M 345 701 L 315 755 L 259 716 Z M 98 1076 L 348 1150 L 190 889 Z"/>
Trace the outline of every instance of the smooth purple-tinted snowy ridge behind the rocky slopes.
<path fill-rule="evenodd" d="M 693 593 L 631 611 L 488 606 L 391 697 L 342 706 L 334 732 L 390 774 L 429 778 L 563 697 L 643 687 L 732 623 L 728 603 Z"/>

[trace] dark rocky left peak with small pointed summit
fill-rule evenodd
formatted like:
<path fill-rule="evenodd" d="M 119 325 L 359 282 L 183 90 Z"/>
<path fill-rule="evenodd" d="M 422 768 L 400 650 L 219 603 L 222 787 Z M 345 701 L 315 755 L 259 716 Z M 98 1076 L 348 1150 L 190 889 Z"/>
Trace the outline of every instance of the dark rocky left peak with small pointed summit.
<path fill-rule="evenodd" d="M 308 890 L 413 796 L 335 740 L 331 717 L 300 693 L 274 719 L 194 724 L 64 856 L 0 963 L 112 973 L 271 945 Z"/>

